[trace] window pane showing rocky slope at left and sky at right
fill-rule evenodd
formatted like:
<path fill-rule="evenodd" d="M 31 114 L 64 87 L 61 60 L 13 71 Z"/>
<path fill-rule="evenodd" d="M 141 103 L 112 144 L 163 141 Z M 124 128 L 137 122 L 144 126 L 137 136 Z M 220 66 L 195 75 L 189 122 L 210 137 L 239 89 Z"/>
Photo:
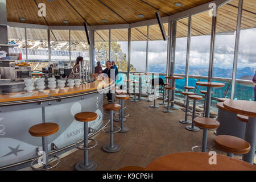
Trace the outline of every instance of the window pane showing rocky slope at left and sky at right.
<path fill-rule="evenodd" d="M 128 29 L 111 30 L 111 55 L 118 71 L 127 72 Z"/>

